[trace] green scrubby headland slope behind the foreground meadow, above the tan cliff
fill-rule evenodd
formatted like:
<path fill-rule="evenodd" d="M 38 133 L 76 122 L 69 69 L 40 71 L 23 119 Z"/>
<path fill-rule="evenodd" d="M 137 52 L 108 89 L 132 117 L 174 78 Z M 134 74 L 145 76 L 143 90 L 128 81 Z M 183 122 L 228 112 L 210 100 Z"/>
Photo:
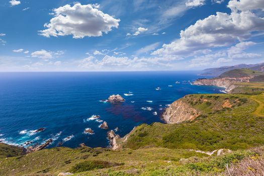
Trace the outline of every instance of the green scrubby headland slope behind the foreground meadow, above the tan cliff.
<path fill-rule="evenodd" d="M 196 103 L 201 100 L 200 97 L 191 95 L 184 100 L 196 100 L 190 104 L 202 111 L 203 116 L 182 124 L 141 125 L 124 146 L 132 149 L 160 146 L 212 151 L 220 148 L 245 149 L 264 144 L 264 118 L 253 115 L 258 104 L 248 99 L 249 96 L 203 95 L 203 99 L 209 103 Z M 217 103 L 227 98 L 235 102 L 233 107 L 219 109 Z"/>

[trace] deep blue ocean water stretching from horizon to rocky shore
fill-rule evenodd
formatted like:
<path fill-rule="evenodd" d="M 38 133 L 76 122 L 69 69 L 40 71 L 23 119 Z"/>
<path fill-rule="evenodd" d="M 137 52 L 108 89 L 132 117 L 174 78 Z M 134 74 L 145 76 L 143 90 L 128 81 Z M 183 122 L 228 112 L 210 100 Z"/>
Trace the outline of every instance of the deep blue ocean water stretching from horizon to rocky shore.
<path fill-rule="evenodd" d="M 49 147 L 58 146 L 59 142 L 68 147 L 78 147 L 80 143 L 107 147 L 107 130 L 98 128 L 101 123 L 87 121 L 87 118 L 100 115 L 110 129 L 119 128 L 116 133 L 121 137 L 142 123 L 163 123 L 160 119 L 163 110 L 160 109 L 167 104 L 187 94 L 220 93 L 219 87 L 188 82 L 199 77 L 190 71 L 2 72 L 0 141 L 27 146 L 26 141 L 40 144 L 53 138 Z M 156 91 L 156 87 L 161 90 Z M 133 92 L 133 96 L 124 96 L 129 92 Z M 126 101 L 118 104 L 100 102 L 113 94 L 120 94 Z M 142 110 L 142 107 L 153 110 Z M 39 128 L 45 130 L 35 133 L 34 130 Z M 85 128 L 92 128 L 95 134 L 84 134 Z M 63 140 L 70 135 L 73 135 L 70 140 Z"/>

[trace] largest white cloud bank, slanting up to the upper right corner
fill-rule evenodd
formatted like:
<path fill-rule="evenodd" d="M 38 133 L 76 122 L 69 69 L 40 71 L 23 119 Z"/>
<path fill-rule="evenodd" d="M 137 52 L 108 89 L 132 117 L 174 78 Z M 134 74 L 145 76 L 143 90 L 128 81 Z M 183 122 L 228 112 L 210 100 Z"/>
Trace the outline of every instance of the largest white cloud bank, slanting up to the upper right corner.
<path fill-rule="evenodd" d="M 248 4 L 248 7 L 242 6 L 244 4 Z M 228 7 L 232 10 L 231 14 L 217 12 L 216 15 L 198 20 L 194 25 L 181 31 L 180 39 L 163 44 L 161 49 L 152 54 L 185 55 L 207 48 L 230 46 L 238 40 L 247 40 L 252 32 L 264 30 L 264 18 L 250 11 L 263 10 L 262 6 L 261 1 L 230 1 Z M 237 9 L 239 11 L 236 11 Z"/>

